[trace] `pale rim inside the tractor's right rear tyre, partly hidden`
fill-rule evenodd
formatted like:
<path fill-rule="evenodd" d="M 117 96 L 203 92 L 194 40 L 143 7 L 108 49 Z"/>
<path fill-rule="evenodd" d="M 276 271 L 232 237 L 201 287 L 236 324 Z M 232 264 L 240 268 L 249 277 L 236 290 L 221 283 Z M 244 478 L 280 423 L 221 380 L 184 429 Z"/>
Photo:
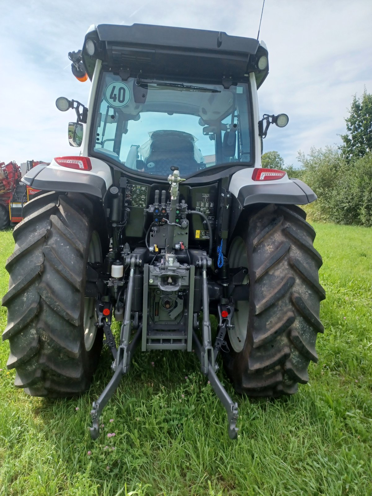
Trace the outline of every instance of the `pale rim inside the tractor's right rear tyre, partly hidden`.
<path fill-rule="evenodd" d="M 246 245 L 240 236 L 234 238 L 229 250 L 229 265 L 231 268 L 248 267 Z M 248 274 L 243 280 L 243 284 L 248 284 Z M 234 329 L 229 329 L 229 339 L 233 350 L 237 353 L 244 348 L 247 339 L 249 305 L 245 300 L 235 302 Z"/>

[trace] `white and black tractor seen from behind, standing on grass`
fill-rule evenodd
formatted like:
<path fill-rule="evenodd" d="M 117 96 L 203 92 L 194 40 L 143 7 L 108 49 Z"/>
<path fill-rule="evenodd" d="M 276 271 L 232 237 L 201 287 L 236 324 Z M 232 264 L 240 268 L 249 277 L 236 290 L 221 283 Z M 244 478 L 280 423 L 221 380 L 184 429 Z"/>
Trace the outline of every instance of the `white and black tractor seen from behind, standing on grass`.
<path fill-rule="evenodd" d="M 75 110 L 68 140 L 81 151 L 25 174 L 43 194 L 24 205 L 6 262 L 15 386 L 79 395 L 105 344 L 113 374 L 93 403 L 95 439 L 136 348 L 194 350 L 235 438 L 221 364 L 236 393 L 290 395 L 308 382 L 323 332 L 322 258 L 298 206 L 316 195 L 261 166 L 269 125 L 288 124 L 259 118 L 267 48 L 225 32 L 101 24 L 68 56 L 91 81 L 87 107 L 56 101 Z"/>

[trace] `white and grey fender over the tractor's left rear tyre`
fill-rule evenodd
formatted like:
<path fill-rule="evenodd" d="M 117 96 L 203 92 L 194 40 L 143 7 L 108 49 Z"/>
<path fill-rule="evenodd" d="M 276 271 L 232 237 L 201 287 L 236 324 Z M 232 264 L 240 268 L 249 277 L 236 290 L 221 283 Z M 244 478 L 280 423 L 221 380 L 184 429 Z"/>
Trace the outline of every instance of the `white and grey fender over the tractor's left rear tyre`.
<path fill-rule="evenodd" d="M 78 156 L 76 158 L 79 158 Z M 23 183 L 43 191 L 86 193 L 103 199 L 113 180 L 110 167 L 97 158 L 89 157 L 91 171 L 69 169 L 57 164 L 37 165 L 22 178 Z"/>

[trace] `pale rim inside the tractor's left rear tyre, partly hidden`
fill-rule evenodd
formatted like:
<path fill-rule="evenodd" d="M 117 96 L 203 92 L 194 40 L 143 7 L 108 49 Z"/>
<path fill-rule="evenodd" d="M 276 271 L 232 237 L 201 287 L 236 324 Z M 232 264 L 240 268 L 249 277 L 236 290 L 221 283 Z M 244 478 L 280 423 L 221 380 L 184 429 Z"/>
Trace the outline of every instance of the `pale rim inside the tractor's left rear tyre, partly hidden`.
<path fill-rule="evenodd" d="M 88 249 L 88 262 L 102 262 L 101 240 L 97 231 L 93 231 Z M 84 345 L 89 351 L 96 339 L 96 299 L 84 298 Z"/>

